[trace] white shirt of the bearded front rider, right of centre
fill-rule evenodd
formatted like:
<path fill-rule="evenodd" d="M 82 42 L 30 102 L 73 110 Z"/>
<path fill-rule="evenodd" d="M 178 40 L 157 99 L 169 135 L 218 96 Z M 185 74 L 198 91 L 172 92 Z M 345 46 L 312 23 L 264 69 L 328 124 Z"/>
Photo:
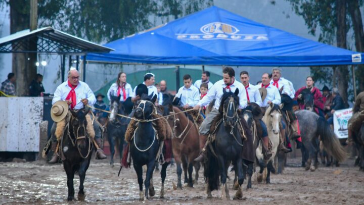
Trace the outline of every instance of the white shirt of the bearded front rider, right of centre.
<path fill-rule="evenodd" d="M 207 92 L 207 95 L 205 95 L 197 105 L 199 106 L 207 106 L 213 99 L 215 100 L 215 109 L 219 109 L 220 103 L 221 103 L 221 97 L 223 95 L 222 89 L 226 87 L 223 80 L 217 81 Z M 242 83 L 238 82 L 237 80 L 234 81 L 234 83 L 230 86 L 231 91 L 235 92 L 235 90 L 239 89 L 239 108 L 244 109 L 248 105 L 248 99 L 246 96 L 245 87 Z M 229 91 L 229 90 L 228 90 Z"/>

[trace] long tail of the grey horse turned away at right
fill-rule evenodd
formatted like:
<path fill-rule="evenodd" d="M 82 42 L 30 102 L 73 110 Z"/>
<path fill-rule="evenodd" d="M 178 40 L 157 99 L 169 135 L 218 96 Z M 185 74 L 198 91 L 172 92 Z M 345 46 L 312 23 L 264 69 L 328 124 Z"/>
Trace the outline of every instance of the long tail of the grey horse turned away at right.
<path fill-rule="evenodd" d="M 317 120 L 317 129 L 325 150 L 339 162 L 344 161 L 347 158 L 347 153 L 342 148 L 339 139 L 323 117 L 319 117 Z"/>

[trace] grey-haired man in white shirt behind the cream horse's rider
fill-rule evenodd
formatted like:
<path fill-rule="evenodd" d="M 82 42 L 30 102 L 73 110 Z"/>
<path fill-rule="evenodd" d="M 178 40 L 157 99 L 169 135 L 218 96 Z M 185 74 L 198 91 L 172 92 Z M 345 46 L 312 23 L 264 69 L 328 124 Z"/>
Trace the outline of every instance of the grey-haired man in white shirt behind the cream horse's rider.
<path fill-rule="evenodd" d="M 270 84 L 276 86 L 280 93 L 287 94 L 293 99 L 296 91 L 294 90 L 292 82 L 282 77 L 282 70 L 275 67 L 272 69 L 271 75 L 272 79 L 270 80 Z"/>

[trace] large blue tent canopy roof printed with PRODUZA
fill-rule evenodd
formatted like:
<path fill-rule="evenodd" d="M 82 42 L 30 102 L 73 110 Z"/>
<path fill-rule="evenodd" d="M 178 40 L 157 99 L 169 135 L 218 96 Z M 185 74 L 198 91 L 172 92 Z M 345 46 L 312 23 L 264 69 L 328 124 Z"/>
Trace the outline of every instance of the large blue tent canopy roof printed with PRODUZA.
<path fill-rule="evenodd" d="M 87 61 L 172 65 L 325 66 L 362 64 L 352 52 L 265 26 L 218 7 L 105 44 Z"/>

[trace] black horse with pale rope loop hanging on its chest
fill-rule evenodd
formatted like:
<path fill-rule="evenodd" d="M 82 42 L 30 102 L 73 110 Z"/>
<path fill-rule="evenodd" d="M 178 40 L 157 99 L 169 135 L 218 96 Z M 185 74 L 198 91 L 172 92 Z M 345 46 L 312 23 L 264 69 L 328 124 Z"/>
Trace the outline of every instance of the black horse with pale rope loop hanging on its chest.
<path fill-rule="evenodd" d="M 153 171 L 156 164 L 156 158 L 160 149 L 160 143 L 157 139 L 157 132 L 152 125 L 151 115 L 156 112 L 156 108 L 152 102 L 157 98 L 153 93 L 150 96 L 143 94 L 142 100 L 139 101 L 138 107 L 135 109 L 134 117 L 138 120 L 133 138 L 130 141 L 130 156 L 133 161 L 133 167 L 138 175 L 139 183 L 139 199 L 144 200 L 144 196 L 149 199 L 155 195 L 153 186 Z M 166 177 L 166 169 L 169 163 L 165 162 L 161 169 L 162 187 L 160 197 L 164 197 L 164 180 Z M 146 179 L 144 181 L 145 194 L 143 196 L 143 166 L 147 165 Z"/>

